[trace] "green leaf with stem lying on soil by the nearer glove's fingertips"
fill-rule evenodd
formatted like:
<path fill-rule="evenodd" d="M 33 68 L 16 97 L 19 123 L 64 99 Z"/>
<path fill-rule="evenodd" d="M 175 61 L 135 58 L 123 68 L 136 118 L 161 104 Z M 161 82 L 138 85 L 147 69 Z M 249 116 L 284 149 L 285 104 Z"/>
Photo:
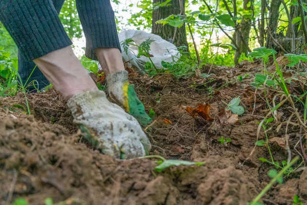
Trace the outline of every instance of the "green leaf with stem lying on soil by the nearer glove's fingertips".
<path fill-rule="evenodd" d="M 191 161 L 183 161 L 183 160 L 176 160 L 176 159 L 165 159 L 164 157 L 159 156 L 159 155 L 149 155 L 149 156 L 139 157 L 139 159 L 143 159 L 143 158 L 160 158 L 161 159 L 159 161 L 156 161 L 156 163 L 159 164 L 157 167 L 155 167 L 155 171 L 156 172 L 162 172 L 166 168 L 173 167 L 173 166 L 176 166 L 176 167 L 181 166 L 181 165 L 185 165 L 185 166 L 191 166 L 191 165 L 202 166 L 202 165 L 204 165 L 206 163 L 205 161 L 202 161 L 202 162 L 191 162 Z"/>

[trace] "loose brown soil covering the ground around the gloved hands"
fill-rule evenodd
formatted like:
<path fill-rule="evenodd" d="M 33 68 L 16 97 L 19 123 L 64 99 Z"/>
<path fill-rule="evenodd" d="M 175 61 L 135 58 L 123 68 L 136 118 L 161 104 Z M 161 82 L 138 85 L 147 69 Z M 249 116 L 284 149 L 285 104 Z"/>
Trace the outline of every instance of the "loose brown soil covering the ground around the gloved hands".
<path fill-rule="evenodd" d="M 258 94 L 255 99 L 250 86 L 260 69 L 257 62 L 238 68 L 216 67 L 216 76 L 210 79 L 130 73 L 146 110 L 156 112 L 155 121 L 145 129 L 152 144 L 150 154 L 207 162 L 201 167 L 170 168 L 162 173 L 153 171 L 157 165 L 153 159 L 116 160 L 91 149 L 73 125 L 65 101 L 53 90 L 27 95 L 31 116 L 26 115 L 23 94 L 0 99 L 1 204 L 10 204 L 18 197 L 26 198 L 29 204 L 43 204 L 51 197 L 55 203 L 63 202 L 60 204 L 246 205 L 267 185 L 267 172 L 274 169 L 258 159 L 270 158 L 265 147 L 250 156 L 257 122 L 267 113 L 263 112 L 267 109 L 265 101 Z M 226 85 L 234 76 L 247 73 L 250 76 L 243 83 Z M 221 89 L 210 93 L 209 87 Z M 239 116 L 237 125 L 222 125 L 217 117 L 225 108 L 222 101 L 228 103 L 237 96 L 245 114 Z M 199 103 L 211 105 L 212 122 L 194 119 L 185 110 Z M 287 117 L 284 111 L 281 118 Z M 269 138 L 283 136 L 283 127 L 269 132 Z M 295 127 L 290 130 L 291 136 L 299 132 Z M 221 136 L 231 142 L 222 145 L 218 141 Z M 262 131 L 259 139 L 264 138 Z M 294 146 L 297 138 L 291 141 Z M 271 150 L 276 161 L 287 160 L 282 147 L 272 144 Z M 293 155 L 297 153 L 293 151 Z M 307 171 L 295 172 L 284 180 L 274 185 L 262 202 L 292 204 L 298 195 L 305 204 Z"/>

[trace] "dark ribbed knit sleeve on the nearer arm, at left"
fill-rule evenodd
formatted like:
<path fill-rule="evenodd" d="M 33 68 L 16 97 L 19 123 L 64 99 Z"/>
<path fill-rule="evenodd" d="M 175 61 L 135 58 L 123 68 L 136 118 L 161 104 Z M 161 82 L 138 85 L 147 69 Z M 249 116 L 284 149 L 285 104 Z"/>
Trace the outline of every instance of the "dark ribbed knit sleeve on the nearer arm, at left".
<path fill-rule="evenodd" d="M 26 60 L 72 45 L 51 0 L 1 0 L 0 21 Z"/>

